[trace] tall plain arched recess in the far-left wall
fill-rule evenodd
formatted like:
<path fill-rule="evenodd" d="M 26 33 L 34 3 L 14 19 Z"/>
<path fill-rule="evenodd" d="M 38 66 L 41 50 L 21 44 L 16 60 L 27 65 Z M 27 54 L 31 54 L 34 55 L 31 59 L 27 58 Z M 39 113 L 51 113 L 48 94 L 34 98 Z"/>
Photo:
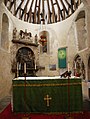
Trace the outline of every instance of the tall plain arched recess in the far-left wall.
<path fill-rule="evenodd" d="M 4 13 L 2 16 L 1 47 L 5 50 L 9 48 L 9 20 Z"/>

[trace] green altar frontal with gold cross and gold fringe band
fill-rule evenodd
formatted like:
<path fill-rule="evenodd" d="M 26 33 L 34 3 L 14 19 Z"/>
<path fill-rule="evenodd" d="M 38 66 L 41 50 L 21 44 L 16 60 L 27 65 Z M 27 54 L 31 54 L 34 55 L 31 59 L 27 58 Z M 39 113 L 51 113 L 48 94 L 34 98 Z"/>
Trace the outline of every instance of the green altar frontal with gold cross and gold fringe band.
<path fill-rule="evenodd" d="M 34 78 L 34 77 L 33 77 Z M 13 112 L 68 113 L 82 111 L 81 79 L 13 80 Z"/>

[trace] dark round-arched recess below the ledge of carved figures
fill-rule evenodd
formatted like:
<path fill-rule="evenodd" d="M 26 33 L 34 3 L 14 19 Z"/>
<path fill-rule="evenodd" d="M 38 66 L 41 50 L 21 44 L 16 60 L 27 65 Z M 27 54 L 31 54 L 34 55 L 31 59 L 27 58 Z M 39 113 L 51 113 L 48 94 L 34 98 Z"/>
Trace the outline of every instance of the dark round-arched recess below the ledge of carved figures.
<path fill-rule="evenodd" d="M 28 47 L 22 47 L 16 54 L 17 76 L 24 76 L 26 68 L 26 76 L 35 76 L 35 55 Z M 24 65 L 26 64 L 26 67 Z"/>

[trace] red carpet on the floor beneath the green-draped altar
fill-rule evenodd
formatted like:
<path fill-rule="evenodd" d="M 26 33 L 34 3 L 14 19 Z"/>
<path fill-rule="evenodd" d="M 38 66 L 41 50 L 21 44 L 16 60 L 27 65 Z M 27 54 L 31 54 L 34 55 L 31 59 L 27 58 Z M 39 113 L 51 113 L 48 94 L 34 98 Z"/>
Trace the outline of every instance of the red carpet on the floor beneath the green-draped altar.
<path fill-rule="evenodd" d="M 25 114 L 15 114 L 11 110 L 11 104 L 9 104 L 1 113 L 0 119 L 22 119 Z M 67 114 L 48 115 L 48 114 L 28 114 L 26 116 L 30 119 L 67 119 Z M 90 119 L 90 112 L 83 112 L 78 114 L 71 114 L 72 118 L 68 119 Z"/>

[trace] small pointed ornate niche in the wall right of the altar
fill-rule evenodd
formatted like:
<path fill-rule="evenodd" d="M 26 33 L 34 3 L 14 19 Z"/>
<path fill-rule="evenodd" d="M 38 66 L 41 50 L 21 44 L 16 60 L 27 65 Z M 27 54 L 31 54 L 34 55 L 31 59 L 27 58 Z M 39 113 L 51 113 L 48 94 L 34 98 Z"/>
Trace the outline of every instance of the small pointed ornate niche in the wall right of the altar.
<path fill-rule="evenodd" d="M 76 55 L 74 62 L 74 75 L 85 79 L 85 65 L 79 55 Z"/>

